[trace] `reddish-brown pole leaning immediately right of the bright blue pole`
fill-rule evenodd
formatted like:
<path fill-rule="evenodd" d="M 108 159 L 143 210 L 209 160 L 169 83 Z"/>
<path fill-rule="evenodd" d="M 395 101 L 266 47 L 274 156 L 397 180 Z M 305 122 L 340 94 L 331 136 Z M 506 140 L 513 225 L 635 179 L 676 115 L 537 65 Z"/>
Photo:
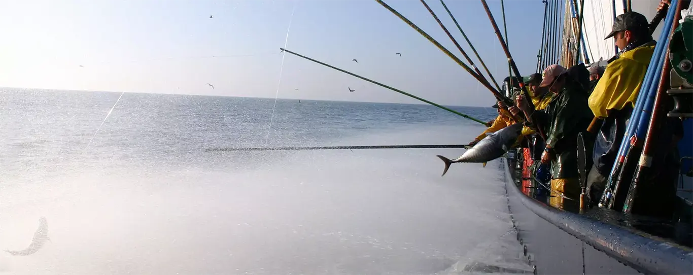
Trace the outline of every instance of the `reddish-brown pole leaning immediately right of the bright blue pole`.
<path fill-rule="evenodd" d="M 674 23 L 672 25 L 672 32 L 669 35 L 669 41 L 672 40 L 676 28 L 678 28 L 678 19 L 681 19 L 681 9 L 683 8 L 683 2 L 685 0 L 680 0 L 676 3 L 676 15 L 674 17 Z M 687 5 L 685 5 L 687 6 Z M 628 195 L 626 195 L 626 202 L 623 205 L 624 213 L 632 213 L 635 197 L 638 195 L 638 187 L 642 181 L 651 179 L 653 175 L 652 160 L 653 152 L 656 150 L 656 143 L 658 142 L 657 134 L 663 123 L 666 123 L 667 114 L 665 112 L 665 104 L 667 98 L 667 89 L 669 89 L 669 75 L 672 70 L 672 62 L 669 60 L 669 51 L 665 54 L 664 66 L 662 68 L 662 73 L 659 80 L 659 85 L 657 87 L 657 94 L 654 98 L 654 106 L 652 108 L 652 114 L 647 126 L 647 135 L 644 139 L 644 145 L 642 146 L 642 154 L 640 154 L 640 161 L 638 161 L 638 167 L 635 168 L 633 174 L 633 181 L 628 190 Z"/>

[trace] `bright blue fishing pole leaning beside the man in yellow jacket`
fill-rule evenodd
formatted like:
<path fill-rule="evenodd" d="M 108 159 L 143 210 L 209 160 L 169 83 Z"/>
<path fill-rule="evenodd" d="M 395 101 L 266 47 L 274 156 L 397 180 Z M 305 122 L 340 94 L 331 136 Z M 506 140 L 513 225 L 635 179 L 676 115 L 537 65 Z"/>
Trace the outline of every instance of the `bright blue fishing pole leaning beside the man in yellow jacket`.
<path fill-rule="evenodd" d="M 678 0 L 672 0 L 672 5 L 675 5 L 676 3 L 678 3 Z M 621 175 L 624 161 L 627 154 L 630 152 L 630 149 L 633 148 L 636 141 L 642 140 L 642 137 L 647 131 L 647 122 L 649 119 L 647 114 L 651 112 L 653 106 L 654 96 L 656 95 L 656 89 L 659 83 L 660 71 L 662 71 L 664 66 L 664 55 L 667 51 L 669 33 L 671 32 L 672 25 L 674 23 L 674 17 L 676 17 L 676 9 L 667 10 L 667 17 L 665 18 L 662 33 L 660 33 L 658 43 L 655 46 L 654 53 L 650 59 L 650 66 L 647 67 L 647 72 L 645 73 L 644 80 L 640 86 L 640 91 L 638 91 L 638 98 L 635 100 L 635 107 L 633 107 L 631 118 L 626 126 L 626 134 L 624 134 L 622 138 L 617 158 L 615 159 L 614 165 L 611 168 L 607 186 L 604 188 L 604 194 L 599 202 L 599 206 L 608 206 L 610 209 L 615 209 L 622 207 L 622 202 L 625 201 L 626 191 L 624 189 L 627 189 L 628 187 L 622 186 L 620 181 L 617 179 Z M 645 115 L 643 116 L 642 114 Z M 622 179 L 624 179 L 624 177 L 628 177 L 627 174 L 624 174 Z M 630 175 L 630 177 L 632 177 L 632 175 Z M 617 199 L 615 199 L 616 196 L 618 196 Z"/>

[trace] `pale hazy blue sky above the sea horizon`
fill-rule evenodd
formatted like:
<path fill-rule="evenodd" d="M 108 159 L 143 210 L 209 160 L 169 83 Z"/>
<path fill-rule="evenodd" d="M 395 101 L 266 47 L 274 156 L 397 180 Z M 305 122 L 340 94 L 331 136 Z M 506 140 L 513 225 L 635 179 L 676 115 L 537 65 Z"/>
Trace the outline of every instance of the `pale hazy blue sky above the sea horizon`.
<path fill-rule="evenodd" d="M 386 2 L 462 59 L 420 1 Z M 472 54 L 441 3 L 427 3 Z M 480 1 L 446 4 L 495 78 L 505 78 L 505 55 Z M 543 3 L 505 5 L 511 53 L 523 74 L 534 73 Z M 292 51 L 436 103 L 493 103 L 462 67 L 372 0 L 26 0 L 1 6 L 0 87 L 274 98 L 279 47 L 291 21 Z M 502 24 L 500 1 L 489 6 Z M 279 98 L 415 102 L 293 55 L 283 62 Z"/>

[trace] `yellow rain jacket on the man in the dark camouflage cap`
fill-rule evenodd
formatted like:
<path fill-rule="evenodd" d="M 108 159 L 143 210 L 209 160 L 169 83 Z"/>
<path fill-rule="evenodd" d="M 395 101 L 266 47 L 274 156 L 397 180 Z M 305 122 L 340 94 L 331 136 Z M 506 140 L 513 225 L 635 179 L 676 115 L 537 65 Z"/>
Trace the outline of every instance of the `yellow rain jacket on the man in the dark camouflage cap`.
<path fill-rule="evenodd" d="M 606 118 L 609 109 L 620 110 L 627 105 L 635 107 L 635 100 L 638 98 L 638 91 L 654 47 L 651 45 L 633 48 L 606 66 L 604 76 L 599 79 L 588 100 L 595 116 Z"/>

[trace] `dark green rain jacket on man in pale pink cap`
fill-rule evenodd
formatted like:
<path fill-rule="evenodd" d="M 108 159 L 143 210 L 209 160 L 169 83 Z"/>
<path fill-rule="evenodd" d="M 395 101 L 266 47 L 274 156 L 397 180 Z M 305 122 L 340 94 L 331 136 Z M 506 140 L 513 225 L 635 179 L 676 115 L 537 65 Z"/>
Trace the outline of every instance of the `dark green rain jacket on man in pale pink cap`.
<path fill-rule="evenodd" d="M 568 78 L 563 90 L 552 100 L 543 115 L 546 144 L 554 149 L 552 179 L 577 178 L 577 134 L 585 132 L 593 114 L 587 93 L 579 83 Z"/>

